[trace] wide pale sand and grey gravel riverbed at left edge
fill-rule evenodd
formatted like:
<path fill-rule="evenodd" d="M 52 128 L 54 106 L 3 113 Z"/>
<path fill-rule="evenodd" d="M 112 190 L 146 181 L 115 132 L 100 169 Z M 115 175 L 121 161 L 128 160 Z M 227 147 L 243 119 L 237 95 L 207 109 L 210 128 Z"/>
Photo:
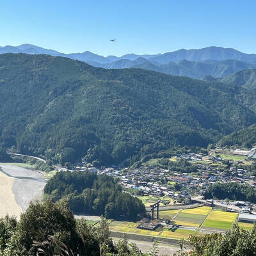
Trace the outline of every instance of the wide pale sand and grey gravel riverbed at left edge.
<path fill-rule="evenodd" d="M 42 198 L 44 173 L 0 163 L 0 217 L 25 212 L 31 201 Z"/>

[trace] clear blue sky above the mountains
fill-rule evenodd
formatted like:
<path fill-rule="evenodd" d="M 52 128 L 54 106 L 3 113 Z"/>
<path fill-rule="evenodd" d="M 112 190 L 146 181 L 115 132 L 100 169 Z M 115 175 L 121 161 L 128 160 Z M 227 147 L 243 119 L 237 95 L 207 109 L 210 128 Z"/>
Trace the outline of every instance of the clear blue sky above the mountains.
<path fill-rule="evenodd" d="M 0 45 L 104 56 L 212 45 L 256 53 L 255 10 L 255 0 L 1 0 Z"/>

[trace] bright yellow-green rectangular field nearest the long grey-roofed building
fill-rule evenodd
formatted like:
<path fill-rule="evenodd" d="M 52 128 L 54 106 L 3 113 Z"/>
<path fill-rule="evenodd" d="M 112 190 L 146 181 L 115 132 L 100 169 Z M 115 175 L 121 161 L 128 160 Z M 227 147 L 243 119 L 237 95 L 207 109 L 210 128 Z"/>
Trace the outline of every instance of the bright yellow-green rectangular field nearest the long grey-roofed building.
<path fill-rule="evenodd" d="M 202 227 L 230 229 L 237 219 L 235 212 L 211 211 Z"/>

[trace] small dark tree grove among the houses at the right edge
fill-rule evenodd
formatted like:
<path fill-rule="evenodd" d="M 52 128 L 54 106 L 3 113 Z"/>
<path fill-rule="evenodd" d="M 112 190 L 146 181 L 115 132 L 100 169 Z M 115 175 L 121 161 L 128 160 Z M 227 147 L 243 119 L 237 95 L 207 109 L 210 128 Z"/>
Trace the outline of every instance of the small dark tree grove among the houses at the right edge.
<path fill-rule="evenodd" d="M 211 184 L 205 191 L 205 199 L 218 198 L 241 200 L 256 203 L 256 191 L 248 184 L 239 184 L 236 182 Z"/>

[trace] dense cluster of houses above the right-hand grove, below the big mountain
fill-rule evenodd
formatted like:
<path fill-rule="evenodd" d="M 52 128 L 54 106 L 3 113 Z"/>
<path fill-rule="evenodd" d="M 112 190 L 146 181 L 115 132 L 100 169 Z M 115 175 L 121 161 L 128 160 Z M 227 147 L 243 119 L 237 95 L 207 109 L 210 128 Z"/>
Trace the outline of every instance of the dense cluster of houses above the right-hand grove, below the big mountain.
<path fill-rule="evenodd" d="M 255 148 L 250 151 L 235 150 L 233 154 L 248 156 L 252 155 L 253 152 L 255 152 Z M 208 156 L 189 153 L 179 155 L 177 159 L 187 159 L 194 163 L 195 172 L 193 174 L 172 172 L 172 170 L 160 169 L 154 165 L 142 166 L 136 170 L 129 170 L 128 168 L 104 168 L 104 170 L 99 170 L 95 167 L 88 167 L 84 162 L 77 164 L 74 170 L 82 172 L 88 170 L 92 173 L 117 177 L 120 180 L 120 184 L 125 188 L 138 189 L 142 195 L 166 195 L 175 200 L 179 198 L 187 198 L 189 200 L 192 195 L 203 195 L 207 187 L 215 182 L 238 182 L 247 183 L 253 187 L 256 186 L 255 176 L 250 175 L 248 170 L 234 167 L 233 163 L 241 164 L 243 161 L 235 162 L 229 159 L 228 161 L 232 163 L 232 167 L 229 170 L 219 168 L 218 164 L 204 164 L 205 161 L 211 161 L 212 163 L 223 161 L 220 156 L 216 155 L 216 152 L 211 150 Z M 178 188 L 173 184 L 178 184 Z"/>

